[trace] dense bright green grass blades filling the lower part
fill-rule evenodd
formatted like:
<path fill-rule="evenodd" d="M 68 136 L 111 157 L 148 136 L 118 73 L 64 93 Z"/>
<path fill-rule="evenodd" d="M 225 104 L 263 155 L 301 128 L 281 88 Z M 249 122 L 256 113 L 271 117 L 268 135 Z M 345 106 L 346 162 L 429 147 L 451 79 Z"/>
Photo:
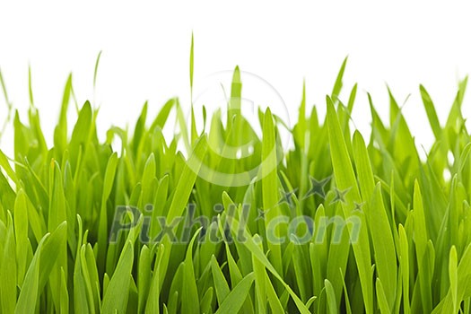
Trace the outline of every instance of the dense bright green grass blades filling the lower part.
<path fill-rule="evenodd" d="M 325 118 L 303 90 L 292 149 L 283 117 L 259 111 L 261 135 L 244 118 L 239 68 L 229 117 L 204 112 L 198 130 L 178 99 L 153 120 L 145 104 L 133 131 L 104 142 L 89 102 L 69 127 L 69 77 L 53 147 L 30 88 L 14 156 L 0 151 L 0 312 L 470 313 L 467 79 L 444 125 L 420 86 L 435 136 L 421 160 L 391 92 L 388 122 L 369 98 L 370 138 L 351 129 L 344 72 Z M 180 132 L 167 142 L 171 111 Z M 227 155 L 247 143 L 253 153 Z"/>

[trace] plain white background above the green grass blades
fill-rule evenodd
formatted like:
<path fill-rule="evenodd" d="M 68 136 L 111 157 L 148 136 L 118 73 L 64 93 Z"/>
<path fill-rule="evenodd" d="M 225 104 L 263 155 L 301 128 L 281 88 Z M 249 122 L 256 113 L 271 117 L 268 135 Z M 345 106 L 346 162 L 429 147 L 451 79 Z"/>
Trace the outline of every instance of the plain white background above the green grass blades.
<path fill-rule="evenodd" d="M 149 100 L 151 115 L 173 96 L 188 105 L 192 31 L 196 83 L 240 65 L 275 87 L 292 120 L 303 79 L 308 104 L 325 112 L 325 95 L 348 55 L 344 92 L 359 83 L 355 125 L 368 134 L 366 92 L 371 92 L 380 115 L 388 118 L 388 83 L 400 104 L 411 94 L 404 107 L 406 119 L 417 144 L 430 145 L 432 132 L 418 86 L 423 83 L 431 93 L 444 123 L 458 79 L 471 73 L 470 5 L 326 3 L 1 3 L 0 68 L 10 99 L 25 120 L 31 65 L 35 105 L 51 143 L 67 74 L 73 72 L 78 100 L 92 100 L 93 67 L 100 50 L 94 104 L 100 105 L 102 135 L 111 125 L 134 123 L 144 100 Z M 469 116 L 469 97 L 465 101 Z M 0 97 L 0 118 L 4 113 Z M 8 150 L 11 138 L 4 136 L 2 149 Z"/>

